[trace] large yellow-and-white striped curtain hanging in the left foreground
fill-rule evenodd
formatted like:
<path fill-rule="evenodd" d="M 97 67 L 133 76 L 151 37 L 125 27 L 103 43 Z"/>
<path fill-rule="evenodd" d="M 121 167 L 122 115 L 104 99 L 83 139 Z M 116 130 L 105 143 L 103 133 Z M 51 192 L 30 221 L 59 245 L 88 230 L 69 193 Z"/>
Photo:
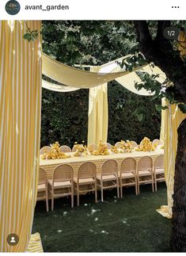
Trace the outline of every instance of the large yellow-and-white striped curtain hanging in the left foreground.
<path fill-rule="evenodd" d="M 40 31 L 40 21 L 26 21 Z M 36 204 L 40 150 L 40 38 L 25 21 L 0 21 L 0 251 L 25 252 Z M 19 236 L 16 246 L 6 238 Z"/>

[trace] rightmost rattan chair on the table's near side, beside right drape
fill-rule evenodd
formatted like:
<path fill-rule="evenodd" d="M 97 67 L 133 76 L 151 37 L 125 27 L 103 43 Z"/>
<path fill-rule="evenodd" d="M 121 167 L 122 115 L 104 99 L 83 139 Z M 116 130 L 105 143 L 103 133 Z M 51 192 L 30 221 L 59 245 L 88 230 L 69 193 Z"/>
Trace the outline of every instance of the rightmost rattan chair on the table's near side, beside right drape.
<path fill-rule="evenodd" d="M 159 155 L 154 163 L 154 185 L 157 191 L 157 182 L 165 181 L 164 156 Z"/>

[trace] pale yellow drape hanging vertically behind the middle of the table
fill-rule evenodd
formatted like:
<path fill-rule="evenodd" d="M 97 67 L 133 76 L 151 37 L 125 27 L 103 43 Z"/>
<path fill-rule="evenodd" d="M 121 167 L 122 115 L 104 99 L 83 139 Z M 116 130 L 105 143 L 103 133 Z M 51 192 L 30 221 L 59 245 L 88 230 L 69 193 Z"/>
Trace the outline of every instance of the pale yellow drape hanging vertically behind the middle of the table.
<path fill-rule="evenodd" d="M 97 72 L 99 67 L 90 71 Z M 100 140 L 107 142 L 108 135 L 108 91 L 107 83 L 89 89 L 89 125 L 88 145 L 98 144 Z"/>

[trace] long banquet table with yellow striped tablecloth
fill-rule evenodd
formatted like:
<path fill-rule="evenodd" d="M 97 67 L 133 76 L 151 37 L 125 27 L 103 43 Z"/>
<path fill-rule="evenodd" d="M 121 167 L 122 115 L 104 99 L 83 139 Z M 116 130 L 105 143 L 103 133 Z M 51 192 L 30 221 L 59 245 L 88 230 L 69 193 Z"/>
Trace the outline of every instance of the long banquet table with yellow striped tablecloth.
<path fill-rule="evenodd" d="M 78 167 L 86 161 L 94 162 L 97 166 L 97 173 L 101 172 L 101 165 L 104 161 L 108 159 L 115 159 L 118 162 L 119 170 L 120 164 L 123 159 L 128 157 L 132 157 L 139 162 L 143 156 L 150 156 L 153 159 L 153 163 L 155 159 L 159 155 L 164 155 L 163 149 L 158 149 L 156 151 L 132 151 L 131 153 L 120 153 L 120 154 L 110 154 L 110 155 L 82 155 L 82 156 L 74 156 L 74 153 L 66 153 L 71 155 L 68 159 L 41 159 L 40 156 L 40 167 L 44 168 L 47 172 L 47 178 L 52 178 L 53 171 L 55 167 L 62 163 L 70 164 L 74 169 L 74 175 L 78 172 Z"/>

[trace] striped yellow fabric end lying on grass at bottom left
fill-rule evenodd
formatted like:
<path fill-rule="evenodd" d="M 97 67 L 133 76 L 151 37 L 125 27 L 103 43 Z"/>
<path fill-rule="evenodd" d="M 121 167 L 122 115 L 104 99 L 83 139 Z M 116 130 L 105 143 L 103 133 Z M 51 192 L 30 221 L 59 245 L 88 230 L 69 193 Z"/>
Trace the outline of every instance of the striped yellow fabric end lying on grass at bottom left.
<path fill-rule="evenodd" d="M 39 233 L 35 233 L 31 235 L 26 252 L 27 253 L 43 253 L 44 252 Z"/>

